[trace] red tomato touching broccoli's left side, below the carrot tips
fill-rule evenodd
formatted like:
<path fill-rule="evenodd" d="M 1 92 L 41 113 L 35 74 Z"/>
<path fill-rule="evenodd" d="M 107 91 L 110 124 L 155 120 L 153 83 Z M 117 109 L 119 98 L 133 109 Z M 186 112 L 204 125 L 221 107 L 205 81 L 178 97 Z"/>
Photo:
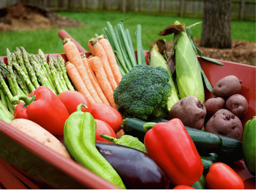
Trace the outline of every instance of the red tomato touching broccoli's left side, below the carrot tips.
<path fill-rule="evenodd" d="M 105 103 L 95 103 L 92 105 L 91 114 L 95 119 L 100 119 L 101 121 L 106 122 L 112 127 L 115 133 L 121 130 L 123 118 L 113 107 L 106 105 Z"/>

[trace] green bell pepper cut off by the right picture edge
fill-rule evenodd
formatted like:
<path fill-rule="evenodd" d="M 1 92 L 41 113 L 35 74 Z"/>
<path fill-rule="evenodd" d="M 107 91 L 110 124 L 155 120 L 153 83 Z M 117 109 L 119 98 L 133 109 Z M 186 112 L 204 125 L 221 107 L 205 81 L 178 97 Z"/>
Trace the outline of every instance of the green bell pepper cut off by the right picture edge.
<path fill-rule="evenodd" d="M 250 174 L 255 176 L 256 164 L 256 116 L 245 123 L 244 134 L 242 138 L 242 152 L 245 165 Z"/>

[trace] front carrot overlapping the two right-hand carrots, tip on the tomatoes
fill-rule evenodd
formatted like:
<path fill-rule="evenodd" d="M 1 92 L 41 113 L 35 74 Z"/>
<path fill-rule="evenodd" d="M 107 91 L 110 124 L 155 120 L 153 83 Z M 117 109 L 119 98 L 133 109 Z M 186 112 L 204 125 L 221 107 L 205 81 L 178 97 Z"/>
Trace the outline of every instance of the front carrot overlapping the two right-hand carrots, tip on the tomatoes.
<path fill-rule="evenodd" d="M 114 92 L 111 88 L 110 82 L 107 79 L 105 70 L 103 69 L 103 64 L 101 62 L 101 59 L 99 57 L 90 58 L 90 65 L 95 72 L 96 78 L 101 86 L 102 91 L 107 97 L 108 102 L 114 109 L 116 109 L 117 105 L 114 102 L 114 97 L 113 97 Z"/>

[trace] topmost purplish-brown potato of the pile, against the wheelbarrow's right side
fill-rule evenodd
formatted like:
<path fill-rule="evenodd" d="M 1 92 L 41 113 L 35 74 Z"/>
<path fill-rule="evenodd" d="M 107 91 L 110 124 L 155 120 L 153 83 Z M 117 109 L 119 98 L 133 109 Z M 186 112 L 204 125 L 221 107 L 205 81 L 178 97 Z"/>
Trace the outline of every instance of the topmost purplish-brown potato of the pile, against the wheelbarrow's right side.
<path fill-rule="evenodd" d="M 236 76 L 229 75 L 219 80 L 213 87 L 213 95 L 227 99 L 231 95 L 239 94 L 241 83 Z"/>

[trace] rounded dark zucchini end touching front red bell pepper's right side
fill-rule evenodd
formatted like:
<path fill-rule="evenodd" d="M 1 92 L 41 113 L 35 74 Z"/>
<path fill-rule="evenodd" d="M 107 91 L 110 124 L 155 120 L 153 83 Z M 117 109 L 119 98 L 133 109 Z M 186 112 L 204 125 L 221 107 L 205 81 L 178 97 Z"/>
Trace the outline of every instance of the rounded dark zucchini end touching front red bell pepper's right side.
<path fill-rule="evenodd" d="M 193 130 L 187 130 L 199 154 L 214 153 L 222 148 L 222 139 L 213 133 L 199 133 Z"/>

